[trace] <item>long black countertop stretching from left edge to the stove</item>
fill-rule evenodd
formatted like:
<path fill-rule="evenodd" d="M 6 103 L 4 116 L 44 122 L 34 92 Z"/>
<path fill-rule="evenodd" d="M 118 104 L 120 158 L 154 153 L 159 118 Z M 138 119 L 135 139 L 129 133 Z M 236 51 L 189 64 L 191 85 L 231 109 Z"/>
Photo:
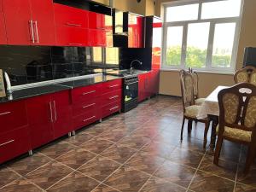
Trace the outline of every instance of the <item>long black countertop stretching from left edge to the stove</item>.
<path fill-rule="evenodd" d="M 88 86 L 90 84 L 98 84 L 102 82 L 111 81 L 114 79 L 122 78 L 111 75 L 98 75 L 87 79 L 71 80 L 60 84 L 48 84 L 38 87 L 26 88 L 22 90 L 14 90 L 12 94 L 7 94 L 7 96 L 0 98 L 0 103 L 14 102 L 32 96 L 41 96 L 45 94 L 59 92 L 61 90 L 71 90 L 73 88 Z"/>

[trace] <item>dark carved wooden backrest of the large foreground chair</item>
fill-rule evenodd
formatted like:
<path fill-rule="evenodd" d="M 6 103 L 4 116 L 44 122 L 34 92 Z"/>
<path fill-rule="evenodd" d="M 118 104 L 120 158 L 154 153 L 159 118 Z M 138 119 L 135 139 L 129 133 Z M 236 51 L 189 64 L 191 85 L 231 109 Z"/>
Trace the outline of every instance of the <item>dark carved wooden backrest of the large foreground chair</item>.
<path fill-rule="evenodd" d="M 236 84 L 219 91 L 219 131 L 224 126 L 256 131 L 256 86 L 249 83 Z"/>

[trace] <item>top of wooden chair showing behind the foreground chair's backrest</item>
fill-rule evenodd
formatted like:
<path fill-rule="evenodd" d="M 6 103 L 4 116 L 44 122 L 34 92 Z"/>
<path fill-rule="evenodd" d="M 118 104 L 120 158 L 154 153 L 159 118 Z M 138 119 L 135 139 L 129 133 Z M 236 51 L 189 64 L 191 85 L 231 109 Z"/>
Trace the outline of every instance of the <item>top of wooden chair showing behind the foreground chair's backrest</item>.
<path fill-rule="evenodd" d="M 247 66 L 236 71 L 234 75 L 236 84 L 250 83 L 256 85 L 256 67 Z"/>

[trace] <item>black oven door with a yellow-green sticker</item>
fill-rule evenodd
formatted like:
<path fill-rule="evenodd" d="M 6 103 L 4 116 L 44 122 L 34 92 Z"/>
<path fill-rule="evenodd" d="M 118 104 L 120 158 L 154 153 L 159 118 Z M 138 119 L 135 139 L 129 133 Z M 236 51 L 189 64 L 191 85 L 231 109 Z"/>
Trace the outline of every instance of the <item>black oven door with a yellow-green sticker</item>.
<path fill-rule="evenodd" d="M 127 82 L 124 84 L 124 102 L 133 102 L 137 101 L 137 95 L 138 95 L 138 82 Z"/>

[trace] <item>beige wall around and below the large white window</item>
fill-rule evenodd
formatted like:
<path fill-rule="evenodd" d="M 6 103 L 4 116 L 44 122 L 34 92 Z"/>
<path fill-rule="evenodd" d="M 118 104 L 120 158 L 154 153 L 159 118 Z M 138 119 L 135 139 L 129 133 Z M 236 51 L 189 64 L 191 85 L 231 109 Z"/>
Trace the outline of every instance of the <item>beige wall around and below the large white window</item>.
<path fill-rule="evenodd" d="M 157 0 L 155 14 L 161 15 L 161 3 L 172 0 Z M 178 0 L 177 0 L 178 1 Z M 241 32 L 239 37 L 238 52 L 236 59 L 236 69 L 241 68 L 243 61 L 243 51 L 247 46 L 256 47 L 256 1 L 244 0 L 243 14 L 241 19 Z M 199 73 L 200 96 L 207 96 L 218 85 L 234 84 L 233 74 Z M 181 96 L 180 83 L 177 71 L 160 72 L 160 94 Z"/>

